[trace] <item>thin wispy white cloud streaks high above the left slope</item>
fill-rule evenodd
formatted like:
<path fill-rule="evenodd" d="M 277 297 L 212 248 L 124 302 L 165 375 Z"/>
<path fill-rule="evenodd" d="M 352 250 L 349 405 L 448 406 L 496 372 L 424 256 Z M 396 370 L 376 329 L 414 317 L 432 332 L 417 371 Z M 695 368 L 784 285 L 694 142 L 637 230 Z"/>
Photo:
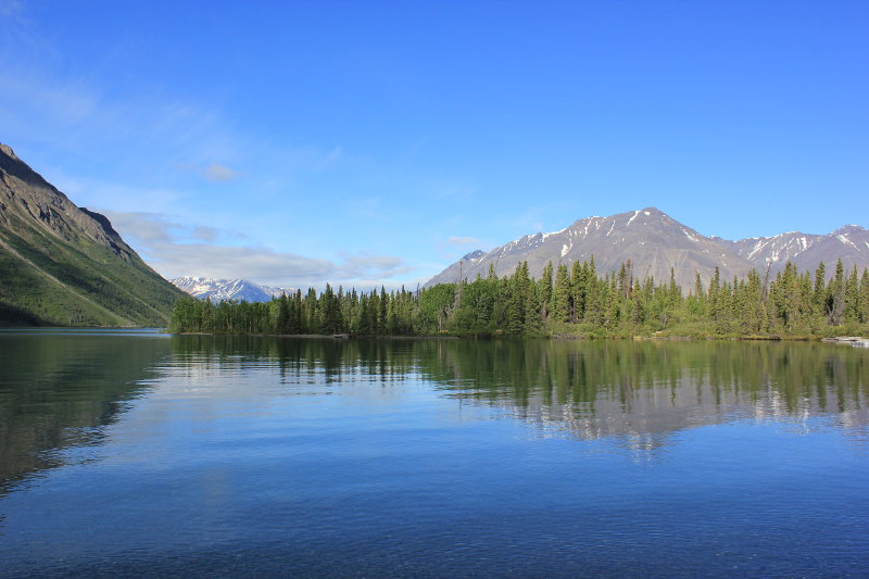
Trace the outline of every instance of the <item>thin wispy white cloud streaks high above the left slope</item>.
<path fill-rule="evenodd" d="M 231 178 L 232 169 L 210 163 L 234 160 L 244 139 L 219 108 L 158 88 L 112 93 L 98 78 L 66 72 L 50 42 L 32 43 L 39 46 L 32 56 L 12 60 L 0 52 L 0 111 L 15 112 L 0 117 L 4 133 L 83 156 L 121 147 L 134 159 L 184 159 L 204 167 L 206 178 Z"/>

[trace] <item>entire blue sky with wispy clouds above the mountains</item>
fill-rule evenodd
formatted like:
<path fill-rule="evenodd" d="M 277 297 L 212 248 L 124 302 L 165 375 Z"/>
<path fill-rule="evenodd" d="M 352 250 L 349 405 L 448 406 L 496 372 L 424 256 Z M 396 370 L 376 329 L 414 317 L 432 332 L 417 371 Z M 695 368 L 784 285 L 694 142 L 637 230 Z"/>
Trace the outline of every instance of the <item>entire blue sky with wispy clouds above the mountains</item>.
<path fill-rule="evenodd" d="M 167 277 L 415 286 L 654 205 L 869 226 L 865 1 L 0 0 L 0 142 Z"/>

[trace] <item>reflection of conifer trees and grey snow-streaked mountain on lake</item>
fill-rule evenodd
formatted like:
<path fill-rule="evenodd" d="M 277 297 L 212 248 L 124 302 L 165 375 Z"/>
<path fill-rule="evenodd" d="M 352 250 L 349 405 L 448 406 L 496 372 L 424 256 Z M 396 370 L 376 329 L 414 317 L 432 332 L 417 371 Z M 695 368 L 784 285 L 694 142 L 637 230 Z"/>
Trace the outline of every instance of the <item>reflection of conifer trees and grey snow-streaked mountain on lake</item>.
<path fill-rule="evenodd" d="M 173 352 L 191 373 L 265 365 L 288 382 L 319 375 L 336 386 L 418 378 L 581 439 L 657 444 L 673 430 L 748 418 L 869 425 L 869 356 L 823 343 L 188 337 Z"/>

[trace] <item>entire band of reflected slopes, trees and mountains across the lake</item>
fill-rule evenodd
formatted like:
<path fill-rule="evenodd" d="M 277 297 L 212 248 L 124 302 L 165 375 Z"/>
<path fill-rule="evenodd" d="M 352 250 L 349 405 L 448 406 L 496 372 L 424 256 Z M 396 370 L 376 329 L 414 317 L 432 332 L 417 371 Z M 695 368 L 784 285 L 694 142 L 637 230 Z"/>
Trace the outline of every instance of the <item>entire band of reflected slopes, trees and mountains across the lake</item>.
<path fill-rule="evenodd" d="M 169 358 L 188 378 L 273 368 L 287 382 L 316 375 L 335 387 L 348 376 L 421 379 L 461 403 L 632 450 L 742 419 L 869 425 L 869 356 L 823 343 L 146 337 L 0 333 L 0 480 L 62 464 L 58 449 L 99 443 L 100 427 Z"/>

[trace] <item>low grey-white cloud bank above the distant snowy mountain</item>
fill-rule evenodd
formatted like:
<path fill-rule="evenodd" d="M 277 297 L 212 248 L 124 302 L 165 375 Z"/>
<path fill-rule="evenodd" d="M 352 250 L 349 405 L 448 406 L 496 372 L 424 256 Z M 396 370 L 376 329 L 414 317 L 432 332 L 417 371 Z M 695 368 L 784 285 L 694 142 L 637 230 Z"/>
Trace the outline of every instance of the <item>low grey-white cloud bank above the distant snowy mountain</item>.
<path fill-rule="evenodd" d="M 322 286 L 326 281 L 367 287 L 406 274 L 401 257 L 367 252 L 341 254 L 338 262 L 275 251 L 257 246 L 232 246 L 236 234 L 184 225 L 158 213 L 104 211 L 148 263 L 164 277 L 185 275 L 245 278 L 274 286 Z M 216 241 L 224 243 L 216 243 Z"/>

